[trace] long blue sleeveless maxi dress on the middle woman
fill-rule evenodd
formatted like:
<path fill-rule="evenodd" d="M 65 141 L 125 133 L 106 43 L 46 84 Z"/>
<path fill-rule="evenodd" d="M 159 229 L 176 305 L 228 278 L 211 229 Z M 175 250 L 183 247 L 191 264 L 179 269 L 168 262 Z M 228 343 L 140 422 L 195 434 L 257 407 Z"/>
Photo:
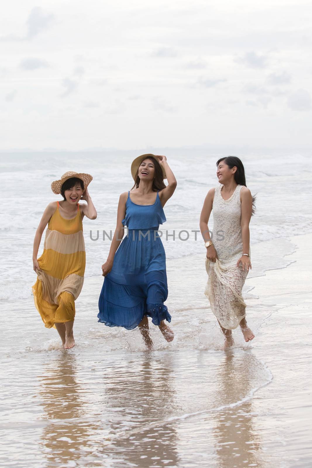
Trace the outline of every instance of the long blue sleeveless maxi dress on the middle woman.
<path fill-rule="evenodd" d="M 123 226 L 128 234 L 116 251 L 111 271 L 104 278 L 98 321 L 108 327 L 132 330 L 148 315 L 154 325 L 171 322 L 164 305 L 168 295 L 166 254 L 158 235 L 166 221 L 159 193 L 153 205 L 126 201 Z"/>

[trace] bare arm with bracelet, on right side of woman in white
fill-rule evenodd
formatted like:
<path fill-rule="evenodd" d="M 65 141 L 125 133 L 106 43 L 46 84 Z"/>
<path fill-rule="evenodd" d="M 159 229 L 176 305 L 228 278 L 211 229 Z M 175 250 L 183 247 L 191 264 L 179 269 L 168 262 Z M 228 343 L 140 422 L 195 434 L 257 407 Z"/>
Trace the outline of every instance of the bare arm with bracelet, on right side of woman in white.
<path fill-rule="evenodd" d="M 253 209 L 253 197 L 251 192 L 247 187 L 241 189 L 241 218 L 240 218 L 240 227 L 241 235 L 243 239 L 243 254 L 249 255 L 249 243 L 250 243 L 250 233 L 249 233 L 249 223 L 251 219 L 252 209 Z M 243 255 L 237 262 L 242 264 L 243 270 L 249 270 L 251 268 L 250 258 L 247 255 Z"/>

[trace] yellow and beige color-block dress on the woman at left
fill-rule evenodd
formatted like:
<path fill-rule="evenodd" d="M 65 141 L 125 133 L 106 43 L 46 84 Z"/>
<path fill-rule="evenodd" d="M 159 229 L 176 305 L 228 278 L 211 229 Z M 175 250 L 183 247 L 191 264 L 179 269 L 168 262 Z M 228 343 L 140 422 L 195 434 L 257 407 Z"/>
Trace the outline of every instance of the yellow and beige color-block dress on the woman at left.
<path fill-rule="evenodd" d="M 41 272 L 37 272 L 32 287 L 36 308 L 47 328 L 74 320 L 74 300 L 80 294 L 86 266 L 79 205 L 73 219 L 63 218 L 58 207 L 48 223 L 44 252 L 38 258 Z"/>

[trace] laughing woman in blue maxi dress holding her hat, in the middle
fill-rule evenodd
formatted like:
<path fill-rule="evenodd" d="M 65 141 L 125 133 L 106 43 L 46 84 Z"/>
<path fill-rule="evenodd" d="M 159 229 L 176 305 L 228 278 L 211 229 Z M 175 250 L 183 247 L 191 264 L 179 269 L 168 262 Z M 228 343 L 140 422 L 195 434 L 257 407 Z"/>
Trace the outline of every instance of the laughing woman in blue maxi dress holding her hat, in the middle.
<path fill-rule="evenodd" d="M 166 221 L 163 206 L 177 182 L 166 156 L 154 154 L 138 156 L 131 164 L 131 175 L 135 183 L 119 197 L 116 230 L 102 265 L 105 278 L 98 319 L 109 327 L 132 330 L 138 326 L 151 349 L 148 317 L 168 342 L 174 338 L 164 322 L 170 322 L 171 316 L 164 305 L 168 295 L 166 254 L 158 229 Z M 128 234 L 123 239 L 124 226 Z"/>

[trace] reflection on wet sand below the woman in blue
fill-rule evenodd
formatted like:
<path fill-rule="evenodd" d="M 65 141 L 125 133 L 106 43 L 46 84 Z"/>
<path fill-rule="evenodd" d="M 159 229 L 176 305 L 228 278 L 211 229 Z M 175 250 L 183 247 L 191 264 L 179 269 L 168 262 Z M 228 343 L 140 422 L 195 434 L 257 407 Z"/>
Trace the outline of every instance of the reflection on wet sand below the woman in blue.
<path fill-rule="evenodd" d="M 179 466 L 174 428 L 145 428 L 166 419 L 174 409 L 173 366 L 170 354 L 155 358 L 146 352 L 140 360 L 129 360 L 122 373 L 110 375 L 104 398 L 111 428 L 120 434 L 113 440 L 115 455 L 123 459 L 118 467 Z"/>

